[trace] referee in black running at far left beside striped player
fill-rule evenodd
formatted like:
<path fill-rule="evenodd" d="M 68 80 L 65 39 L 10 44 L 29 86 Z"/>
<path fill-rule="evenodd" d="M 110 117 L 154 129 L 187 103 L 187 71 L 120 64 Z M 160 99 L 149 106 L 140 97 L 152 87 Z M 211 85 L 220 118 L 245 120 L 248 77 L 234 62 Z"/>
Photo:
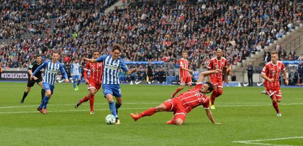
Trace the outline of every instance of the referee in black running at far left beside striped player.
<path fill-rule="evenodd" d="M 42 65 L 43 63 L 41 62 L 42 61 L 42 57 L 40 55 L 37 55 L 36 56 L 36 61 L 32 62 L 29 67 L 28 67 L 28 74 L 29 74 L 29 77 L 33 74 L 33 72 L 40 66 Z M 44 98 L 44 95 L 45 95 L 45 90 L 43 89 L 43 85 L 42 85 L 42 71 L 39 71 L 35 77 L 38 78 L 38 80 L 30 80 L 28 78 L 28 81 L 27 81 L 27 87 L 23 93 L 23 97 L 22 97 L 22 100 L 20 101 L 20 104 L 23 104 L 24 102 L 24 99 L 25 97 L 27 96 L 28 92 L 30 91 L 30 89 L 32 88 L 32 86 L 34 86 L 35 83 L 39 84 L 42 88 L 41 90 L 41 100 Z"/>

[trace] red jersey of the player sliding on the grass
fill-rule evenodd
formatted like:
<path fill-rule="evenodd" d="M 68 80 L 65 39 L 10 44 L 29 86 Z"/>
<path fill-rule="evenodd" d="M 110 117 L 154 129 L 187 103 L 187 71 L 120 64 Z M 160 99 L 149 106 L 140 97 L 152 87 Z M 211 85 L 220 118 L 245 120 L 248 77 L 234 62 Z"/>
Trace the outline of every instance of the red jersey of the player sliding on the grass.
<path fill-rule="evenodd" d="M 199 105 L 203 105 L 203 107 L 206 109 L 209 108 L 210 99 L 207 97 L 207 95 L 200 92 L 202 85 L 202 83 L 197 83 L 194 89 L 181 93 L 178 95 L 178 97 L 176 97 L 176 99 L 180 100 L 180 103 L 183 104 L 187 112 L 190 112 Z"/>

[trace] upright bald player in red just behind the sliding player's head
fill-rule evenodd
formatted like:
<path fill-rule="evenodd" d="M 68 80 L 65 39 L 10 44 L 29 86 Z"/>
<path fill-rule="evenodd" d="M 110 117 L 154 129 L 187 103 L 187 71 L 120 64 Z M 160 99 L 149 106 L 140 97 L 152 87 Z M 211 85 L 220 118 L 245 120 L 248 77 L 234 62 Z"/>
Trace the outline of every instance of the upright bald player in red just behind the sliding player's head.
<path fill-rule="evenodd" d="M 207 68 L 209 70 L 216 70 L 216 69 L 222 70 L 225 75 L 225 83 L 228 83 L 227 71 L 226 71 L 227 61 L 224 57 L 222 57 L 221 49 L 217 49 L 216 57 L 212 58 L 209 61 Z M 212 104 L 211 109 L 215 109 L 215 99 L 223 93 L 222 72 L 211 74 L 210 80 L 214 85 L 214 90 L 211 95 L 211 104 Z"/>

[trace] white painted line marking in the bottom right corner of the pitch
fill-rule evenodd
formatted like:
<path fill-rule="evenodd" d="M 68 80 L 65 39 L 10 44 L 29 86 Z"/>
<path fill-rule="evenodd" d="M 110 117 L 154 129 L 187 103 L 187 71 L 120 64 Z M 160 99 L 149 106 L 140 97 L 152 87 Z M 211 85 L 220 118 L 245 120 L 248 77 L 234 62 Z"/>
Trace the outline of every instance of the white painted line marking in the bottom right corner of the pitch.
<path fill-rule="evenodd" d="M 266 146 L 294 146 L 294 145 L 276 145 L 276 144 L 255 143 L 255 142 L 277 141 L 277 140 L 287 140 L 287 139 L 301 139 L 301 138 L 303 138 L 303 136 L 274 138 L 274 139 L 260 139 L 260 140 L 251 140 L 251 141 L 233 141 L 233 143 L 252 144 L 252 145 L 266 145 Z"/>

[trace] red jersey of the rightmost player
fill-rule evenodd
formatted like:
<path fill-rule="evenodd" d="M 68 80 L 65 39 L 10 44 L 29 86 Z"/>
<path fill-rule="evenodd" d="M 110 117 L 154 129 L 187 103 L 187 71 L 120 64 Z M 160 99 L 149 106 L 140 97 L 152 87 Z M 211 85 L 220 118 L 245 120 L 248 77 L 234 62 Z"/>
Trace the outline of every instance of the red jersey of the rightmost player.
<path fill-rule="evenodd" d="M 285 70 L 285 66 L 282 62 L 278 61 L 277 64 L 268 62 L 262 69 L 262 74 L 266 75 L 269 79 L 274 79 L 274 82 L 264 81 L 264 86 L 266 88 L 271 88 L 275 86 L 280 86 L 279 77 L 281 70 Z"/>

